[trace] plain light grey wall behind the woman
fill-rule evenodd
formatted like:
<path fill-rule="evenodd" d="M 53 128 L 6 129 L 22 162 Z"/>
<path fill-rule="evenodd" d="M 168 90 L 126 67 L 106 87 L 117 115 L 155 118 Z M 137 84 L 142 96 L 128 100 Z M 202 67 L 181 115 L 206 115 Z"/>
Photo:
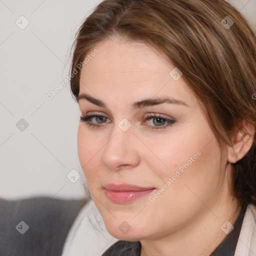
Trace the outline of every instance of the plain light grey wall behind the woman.
<path fill-rule="evenodd" d="M 0 197 L 85 196 L 78 105 L 69 83 L 51 100 L 46 95 L 68 75 L 74 32 L 98 2 L 0 0 Z M 256 24 L 256 0 L 229 2 Z M 75 183 L 66 176 L 72 169 L 81 174 Z"/>

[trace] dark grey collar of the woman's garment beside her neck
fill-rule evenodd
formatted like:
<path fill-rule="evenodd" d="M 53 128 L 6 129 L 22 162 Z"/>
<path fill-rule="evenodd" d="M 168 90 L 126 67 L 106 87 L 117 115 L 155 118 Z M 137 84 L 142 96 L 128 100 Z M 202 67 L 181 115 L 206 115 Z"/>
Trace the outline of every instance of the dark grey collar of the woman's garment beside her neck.
<path fill-rule="evenodd" d="M 247 204 L 243 203 L 239 216 L 234 223 L 234 229 L 226 235 L 224 240 L 209 256 L 233 256 L 240 234 L 243 217 Z M 102 256 L 140 256 L 141 244 L 139 241 L 130 242 L 119 240 L 110 246 Z"/>

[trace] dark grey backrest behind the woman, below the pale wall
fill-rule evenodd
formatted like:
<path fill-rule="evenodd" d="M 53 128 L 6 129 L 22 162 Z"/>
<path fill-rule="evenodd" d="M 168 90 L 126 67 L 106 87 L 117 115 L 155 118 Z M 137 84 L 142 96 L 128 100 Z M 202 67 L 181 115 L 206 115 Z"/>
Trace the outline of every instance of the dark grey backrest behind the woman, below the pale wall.
<path fill-rule="evenodd" d="M 0 256 L 60 256 L 85 203 L 50 197 L 0 199 Z"/>

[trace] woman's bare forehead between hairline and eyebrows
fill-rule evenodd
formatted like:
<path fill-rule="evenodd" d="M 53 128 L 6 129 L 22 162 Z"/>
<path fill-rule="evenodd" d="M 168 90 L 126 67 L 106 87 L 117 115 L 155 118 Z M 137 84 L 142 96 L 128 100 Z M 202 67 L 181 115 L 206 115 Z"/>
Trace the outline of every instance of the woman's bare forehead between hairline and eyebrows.
<path fill-rule="evenodd" d="M 91 51 L 95 48 L 98 53 L 81 69 L 79 94 L 94 94 L 109 101 L 119 98 L 129 103 L 142 95 L 164 95 L 196 104 L 182 76 L 177 80 L 170 76 L 175 66 L 155 48 L 114 39 L 96 44 Z"/>

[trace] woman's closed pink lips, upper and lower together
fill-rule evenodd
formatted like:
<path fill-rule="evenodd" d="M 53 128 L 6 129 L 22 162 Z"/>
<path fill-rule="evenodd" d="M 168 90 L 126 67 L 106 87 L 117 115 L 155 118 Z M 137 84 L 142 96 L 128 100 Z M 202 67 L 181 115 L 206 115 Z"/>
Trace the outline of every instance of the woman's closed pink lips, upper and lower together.
<path fill-rule="evenodd" d="M 132 184 L 113 183 L 108 183 L 103 187 L 105 188 L 106 197 L 115 203 L 134 201 L 155 189 L 155 187 L 141 187 Z"/>

